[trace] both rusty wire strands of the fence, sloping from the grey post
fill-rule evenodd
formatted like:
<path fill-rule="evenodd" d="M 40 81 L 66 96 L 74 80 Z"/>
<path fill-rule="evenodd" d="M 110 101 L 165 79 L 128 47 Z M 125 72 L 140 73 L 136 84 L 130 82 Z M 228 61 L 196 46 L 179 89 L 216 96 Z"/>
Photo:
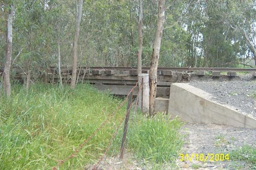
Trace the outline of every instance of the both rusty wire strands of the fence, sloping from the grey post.
<path fill-rule="evenodd" d="M 114 110 L 114 111 L 105 119 L 105 121 L 103 121 L 103 122 L 101 123 L 101 125 L 94 131 L 94 133 L 91 134 L 87 139 L 85 139 L 84 142 L 81 143 L 81 144 L 79 145 L 79 147 L 78 147 L 71 155 L 69 155 L 68 157 L 64 158 L 63 160 L 60 160 L 60 161 L 57 163 L 57 165 L 52 168 L 52 170 L 57 170 L 58 167 L 59 167 L 61 164 L 63 164 L 64 162 L 66 162 L 68 159 L 71 159 L 71 158 L 75 157 L 75 155 L 83 148 L 83 146 L 86 145 L 86 144 L 90 141 L 90 139 L 93 138 L 93 137 L 97 134 L 97 132 L 98 132 L 99 130 L 101 130 L 101 129 L 104 127 L 104 125 L 110 120 L 110 118 L 112 118 L 112 117 L 116 114 L 116 112 L 117 112 L 118 110 L 120 110 L 120 108 L 121 108 L 121 107 L 124 105 L 124 103 L 128 100 L 129 95 L 133 92 L 133 90 L 134 90 L 137 86 L 138 86 L 138 82 L 137 82 L 136 85 L 133 86 L 133 88 L 130 90 L 130 92 L 127 94 L 127 96 L 126 96 L 126 98 L 123 100 L 123 102 L 120 103 L 120 104 L 118 105 L 118 107 L 116 108 L 116 110 Z M 141 91 L 141 88 L 139 88 L 138 96 L 139 96 L 140 91 Z M 118 124 L 117 130 L 116 130 L 116 132 L 112 135 L 112 138 L 110 139 L 110 141 L 109 141 L 109 143 L 108 143 L 108 146 L 106 147 L 105 152 L 103 153 L 102 157 L 101 157 L 101 158 L 99 159 L 99 161 L 93 166 L 93 169 L 94 169 L 94 170 L 98 168 L 100 162 L 103 160 L 103 158 L 105 157 L 106 153 L 107 153 L 108 150 L 110 149 L 111 143 L 113 142 L 114 138 L 115 138 L 116 135 L 118 134 L 118 130 L 120 129 L 121 124 L 124 122 L 125 117 L 127 116 L 127 114 L 129 113 L 129 111 L 131 110 L 132 106 L 135 104 L 135 108 L 137 108 L 136 105 L 138 104 L 138 96 L 137 96 L 137 98 L 136 98 L 136 101 L 133 102 L 133 103 L 129 106 L 129 108 L 128 108 L 128 110 L 127 110 L 127 112 L 126 112 L 124 118 L 123 118 L 122 121 L 120 121 L 120 123 Z M 134 112 L 135 112 L 135 111 L 134 111 Z M 133 113 L 134 113 L 134 112 L 133 112 Z"/>

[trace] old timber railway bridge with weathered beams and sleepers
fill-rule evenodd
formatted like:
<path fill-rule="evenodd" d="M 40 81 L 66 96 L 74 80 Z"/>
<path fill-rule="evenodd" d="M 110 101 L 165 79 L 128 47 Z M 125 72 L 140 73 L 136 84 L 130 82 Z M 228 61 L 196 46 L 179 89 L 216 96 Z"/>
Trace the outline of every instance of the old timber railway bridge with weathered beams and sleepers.
<path fill-rule="evenodd" d="M 149 67 L 143 67 L 142 73 L 149 74 Z M 183 71 L 183 72 L 182 72 Z M 184 72 L 185 71 L 185 72 Z M 220 76 L 220 71 L 227 71 L 227 76 L 236 76 L 236 71 L 252 72 L 256 76 L 256 68 L 191 68 L 191 67 L 159 67 L 157 74 L 157 96 L 169 96 L 170 85 L 175 82 L 187 81 L 189 73 L 196 71 L 197 75 L 205 75 L 205 71 L 211 71 L 213 76 Z M 2 71 L 0 71 L 2 72 Z M 49 67 L 46 74 L 38 73 L 45 82 L 59 82 L 57 68 Z M 69 83 L 72 67 L 61 67 L 62 81 Z M 24 81 L 26 73 L 22 69 L 12 69 L 13 78 Z M 138 81 L 136 67 L 78 67 L 78 82 L 94 84 L 99 90 L 110 90 L 116 95 L 126 95 Z M 137 95 L 138 88 L 133 92 Z"/>

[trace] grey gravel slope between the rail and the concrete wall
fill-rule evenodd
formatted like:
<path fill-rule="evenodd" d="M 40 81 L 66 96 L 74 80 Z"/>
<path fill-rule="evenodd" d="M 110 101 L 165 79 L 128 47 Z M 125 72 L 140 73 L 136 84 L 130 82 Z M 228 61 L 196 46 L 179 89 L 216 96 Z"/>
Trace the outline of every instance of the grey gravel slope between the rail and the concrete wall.
<path fill-rule="evenodd" d="M 256 80 L 251 74 L 231 79 L 226 76 L 212 79 L 210 76 L 192 75 L 188 83 L 210 93 L 211 100 L 256 118 L 256 99 L 252 96 L 256 92 Z"/>

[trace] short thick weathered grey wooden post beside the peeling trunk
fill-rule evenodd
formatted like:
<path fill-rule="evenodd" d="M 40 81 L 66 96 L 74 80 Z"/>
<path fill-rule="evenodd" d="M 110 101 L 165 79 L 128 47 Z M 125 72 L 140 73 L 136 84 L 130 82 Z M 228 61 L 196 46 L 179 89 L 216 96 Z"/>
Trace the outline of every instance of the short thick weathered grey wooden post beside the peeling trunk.
<path fill-rule="evenodd" d="M 141 81 L 140 81 L 141 80 Z M 143 113 L 148 113 L 149 111 L 149 76 L 148 74 L 140 74 L 138 75 L 139 89 L 142 89 L 139 92 L 139 108 Z M 140 84 L 142 82 L 142 84 Z"/>

